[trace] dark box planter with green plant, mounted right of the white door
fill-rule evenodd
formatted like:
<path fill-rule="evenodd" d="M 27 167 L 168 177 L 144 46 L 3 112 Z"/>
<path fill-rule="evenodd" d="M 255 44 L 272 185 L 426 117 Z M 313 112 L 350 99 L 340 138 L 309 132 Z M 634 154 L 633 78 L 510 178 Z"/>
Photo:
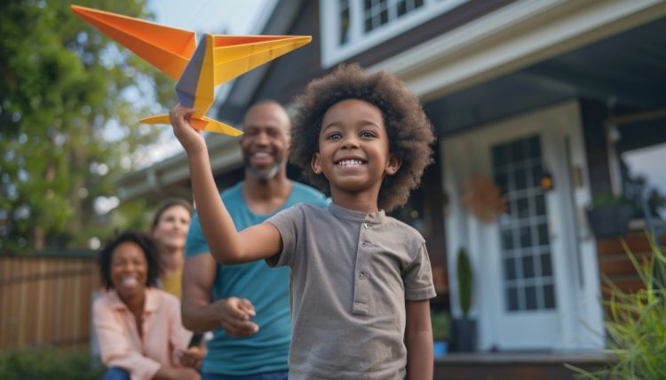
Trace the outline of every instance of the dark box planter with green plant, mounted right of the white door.
<path fill-rule="evenodd" d="M 620 236 L 629 230 L 629 222 L 635 212 L 634 203 L 623 195 L 597 194 L 587 210 L 587 219 L 598 238 Z"/>

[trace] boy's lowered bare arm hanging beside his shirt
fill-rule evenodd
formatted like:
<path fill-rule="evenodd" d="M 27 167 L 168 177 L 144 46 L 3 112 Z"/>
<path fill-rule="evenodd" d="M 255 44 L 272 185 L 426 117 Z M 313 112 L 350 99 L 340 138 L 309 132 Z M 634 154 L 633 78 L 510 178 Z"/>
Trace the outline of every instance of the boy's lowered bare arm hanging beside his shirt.
<path fill-rule="evenodd" d="M 409 380 L 432 379 L 432 325 L 430 300 L 407 301 L 407 378 Z"/>

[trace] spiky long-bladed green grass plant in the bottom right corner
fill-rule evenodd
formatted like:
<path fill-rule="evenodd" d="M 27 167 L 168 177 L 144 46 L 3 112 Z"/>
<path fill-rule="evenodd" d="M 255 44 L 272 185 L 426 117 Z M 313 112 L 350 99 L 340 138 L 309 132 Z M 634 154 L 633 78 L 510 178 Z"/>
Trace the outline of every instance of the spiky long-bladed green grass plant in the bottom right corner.
<path fill-rule="evenodd" d="M 589 372 L 567 365 L 577 376 L 587 379 L 664 379 L 666 378 L 666 257 L 651 239 L 651 257 L 639 261 L 625 243 L 624 249 L 640 276 L 644 289 L 635 293 L 619 289 L 604 278 L 611 297 L 605 326 L 607 352 L 614 363 Z"/>

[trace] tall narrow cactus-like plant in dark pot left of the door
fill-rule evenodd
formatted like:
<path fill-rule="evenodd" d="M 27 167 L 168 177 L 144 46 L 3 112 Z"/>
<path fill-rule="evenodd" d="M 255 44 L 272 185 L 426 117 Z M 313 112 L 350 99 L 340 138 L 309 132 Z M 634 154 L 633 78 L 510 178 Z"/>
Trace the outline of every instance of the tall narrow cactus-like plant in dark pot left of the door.
<path fill-rule="evenodd" d="M 462 318 L 453 321 L 453 349 L 456 352 L 472 352 L 476 350 L 476 321 L 469 315 L 472 308 L 473 273 L 470 258 L 464 248 L 458 249 L 456 277 L 458 302 L 463 315 Z"/>

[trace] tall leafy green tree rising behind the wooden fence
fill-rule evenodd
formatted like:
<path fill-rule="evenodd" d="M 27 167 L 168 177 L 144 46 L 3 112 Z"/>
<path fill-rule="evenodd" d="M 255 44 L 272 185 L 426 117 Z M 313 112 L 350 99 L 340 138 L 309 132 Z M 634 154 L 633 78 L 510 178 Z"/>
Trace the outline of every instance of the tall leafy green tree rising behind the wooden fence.
<path fill-rule="evenodd" d="M 77 4 L 151 18 L 145 0 Z M 69 2 L 0 2 L 0 251 L 81 247 L 112 234 L 95 205 L 115 195 L 115 179 L 163 130 L 139 117 L 173 98 L 168 77 Z"/>

